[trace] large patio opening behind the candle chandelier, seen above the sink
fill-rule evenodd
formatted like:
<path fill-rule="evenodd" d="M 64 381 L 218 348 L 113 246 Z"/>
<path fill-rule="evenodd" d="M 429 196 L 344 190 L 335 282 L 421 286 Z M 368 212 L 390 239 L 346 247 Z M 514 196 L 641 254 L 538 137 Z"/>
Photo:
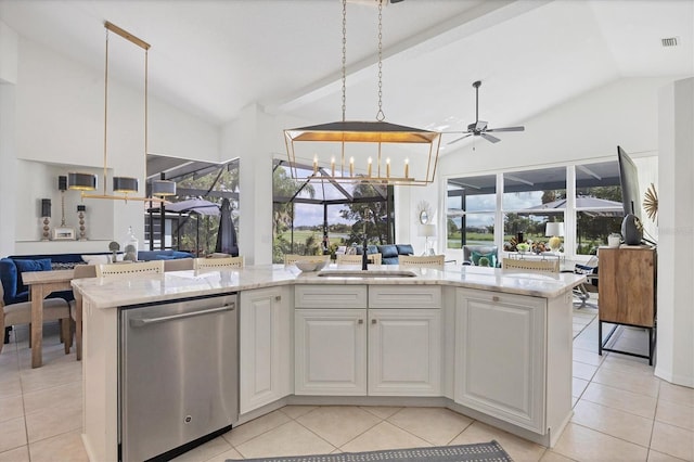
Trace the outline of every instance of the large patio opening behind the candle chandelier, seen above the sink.
<path fill-rule="evenodd" d="M 310 171 L 311 166 L 297 166 Z M 393 187 L 293 179 L 286 161 L 272 169 L 273 262 L 285 254 L 331 255 L 395 242 Z"/>

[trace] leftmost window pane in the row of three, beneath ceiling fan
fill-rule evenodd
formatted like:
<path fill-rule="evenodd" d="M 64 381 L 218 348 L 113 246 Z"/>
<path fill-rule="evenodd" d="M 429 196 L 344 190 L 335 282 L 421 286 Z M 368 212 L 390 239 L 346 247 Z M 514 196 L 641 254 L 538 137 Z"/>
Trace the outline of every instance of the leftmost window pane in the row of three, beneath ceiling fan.
<path fill-rule="evenodd" d="M 448 248 L 493 243 L 496 175 L 449 180 L 447 202 Z"/>

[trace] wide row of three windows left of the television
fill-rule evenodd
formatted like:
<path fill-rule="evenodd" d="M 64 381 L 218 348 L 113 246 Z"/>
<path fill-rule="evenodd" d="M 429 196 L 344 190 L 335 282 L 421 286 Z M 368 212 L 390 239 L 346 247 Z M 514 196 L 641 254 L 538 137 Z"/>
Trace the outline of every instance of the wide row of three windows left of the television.
<path fill-rule="evenodd" d="M 591 254 L 619 231 L 624 216 L 616 161 L 452 178 L 447 187 L 448 248 L 511 247 L 520 236 L 547 242 L 548 222 L 568 221 L 575 224 L 564 230 L 573 236 L 573 252 Z M 503 230 L 500 243 L 497 227 Z"/>

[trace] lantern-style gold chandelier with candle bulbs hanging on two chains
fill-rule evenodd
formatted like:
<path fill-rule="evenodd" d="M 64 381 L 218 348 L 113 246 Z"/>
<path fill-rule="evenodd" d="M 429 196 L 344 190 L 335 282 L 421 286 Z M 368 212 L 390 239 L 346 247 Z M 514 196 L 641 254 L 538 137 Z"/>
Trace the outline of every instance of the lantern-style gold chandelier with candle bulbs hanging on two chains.
<path fill-rule="evenodd" d="M 350 121 L 345 118 L 347 0 L 343 0 L 343 119 L 284 130 L 292 178 L 307 181 L 329 180 L 399 185 L 425 185 L 434 181 L 441 133 L 385 121 L 382 20 L 383 2 L 386 0 L 375 1 L 378 5 L 376 120 Z"/>

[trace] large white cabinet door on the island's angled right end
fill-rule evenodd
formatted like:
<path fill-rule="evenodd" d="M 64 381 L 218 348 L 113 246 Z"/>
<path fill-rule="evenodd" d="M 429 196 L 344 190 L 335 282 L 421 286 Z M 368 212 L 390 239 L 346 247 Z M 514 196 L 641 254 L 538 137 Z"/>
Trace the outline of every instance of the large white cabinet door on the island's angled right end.
<path fill-rule="evenodd" d="M 455 402 L 545 433 L 545 309 L 541 298 L 459 288 Z"/>

